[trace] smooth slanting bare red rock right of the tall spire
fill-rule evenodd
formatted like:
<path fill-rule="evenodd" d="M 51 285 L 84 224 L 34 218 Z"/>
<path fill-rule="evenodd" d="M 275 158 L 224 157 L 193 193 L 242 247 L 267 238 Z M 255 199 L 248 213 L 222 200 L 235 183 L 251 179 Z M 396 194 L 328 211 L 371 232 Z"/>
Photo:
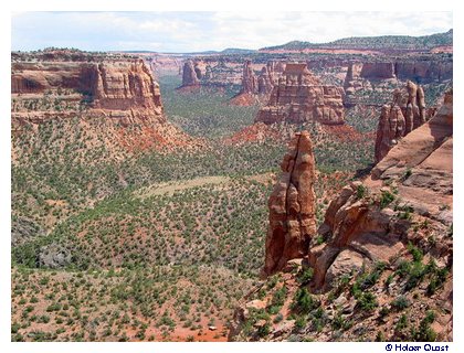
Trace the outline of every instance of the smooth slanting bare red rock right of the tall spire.
<path fill-rule="evenodd" d="M 411 232 L 409 217 L 399 217 L 394 210 L 412 210 L 419 218 L 426 217 L 426 224 L 440 237 L 432 244 L 431 254 L 444 263 L 452 260 L 452 242 L 446 238 L 446 227 L 452 224 L 452 101 L 449 92 L 435 116 L 393 147 L 363 183 L 351 183 L 331 201 L 319 228 L 329 242 L 309 250 L 316 288 L 331 288 L 339 257 L 346 263 L 345 249 L 357 253 L 347 266 L 359 267 L 359 256 L 365 264 L 388 264 L 404 252 L 408 242 L 420 242 L 420 235 Z M 382 186 L 381 181 L 387 180 L 394 192 Z"/>

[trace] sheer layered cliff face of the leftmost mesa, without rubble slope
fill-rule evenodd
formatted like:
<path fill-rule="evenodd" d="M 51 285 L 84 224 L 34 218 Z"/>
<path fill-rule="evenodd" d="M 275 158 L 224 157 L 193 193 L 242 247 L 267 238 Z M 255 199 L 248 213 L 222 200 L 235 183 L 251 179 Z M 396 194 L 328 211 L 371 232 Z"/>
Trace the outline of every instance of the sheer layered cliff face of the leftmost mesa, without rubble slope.
<path fill-rule="evenodd" d="M 165 122 L 158 84 L 140 58 L 83 56 L 80 61 L 12 63 L 12 117 L 40 122 L 85 110 L 125 125 Z M 41 104 L 49 98 L 52 104 Z"/>

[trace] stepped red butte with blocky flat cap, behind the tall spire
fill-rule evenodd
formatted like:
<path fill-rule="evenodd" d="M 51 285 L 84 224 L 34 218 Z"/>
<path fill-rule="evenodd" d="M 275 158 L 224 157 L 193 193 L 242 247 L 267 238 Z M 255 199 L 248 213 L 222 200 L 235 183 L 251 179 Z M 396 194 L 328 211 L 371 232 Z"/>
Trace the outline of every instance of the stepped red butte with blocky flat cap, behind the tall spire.
<path fill-rule="evenodd" d="M 327 125 L 344 124 L 342 96 L 341 87 L 323 85 L 306 64 L 288 63 L 255 122 L 299 124 L 316 120 Z"/>

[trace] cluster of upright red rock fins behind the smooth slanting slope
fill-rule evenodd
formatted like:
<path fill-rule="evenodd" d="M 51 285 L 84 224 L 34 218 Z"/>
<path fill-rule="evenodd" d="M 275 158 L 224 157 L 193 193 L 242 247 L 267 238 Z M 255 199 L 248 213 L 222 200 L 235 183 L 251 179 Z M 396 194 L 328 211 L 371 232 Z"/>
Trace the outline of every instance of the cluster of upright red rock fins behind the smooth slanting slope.
<path fill-rule="evenodd" d="M 398 141 L 425 122 L 425 100 L 421 86 L 407 83 L 405 90 L 396 89 L 393 101 L 382 107 L 377 128 L 376 162 Z"/>

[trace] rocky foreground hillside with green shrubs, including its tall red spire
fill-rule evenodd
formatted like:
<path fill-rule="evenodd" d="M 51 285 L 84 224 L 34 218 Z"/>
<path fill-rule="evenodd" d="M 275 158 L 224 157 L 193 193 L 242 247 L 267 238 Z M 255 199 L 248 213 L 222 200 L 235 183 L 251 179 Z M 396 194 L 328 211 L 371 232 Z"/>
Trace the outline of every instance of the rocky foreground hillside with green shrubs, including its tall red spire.
<path fill-rule="evenodd" d="M 314 207 L 314 200 L 288 192 L 302 179 L 293 169 L 284 171 L 286 186 L 281 182 L 275 190 L 287 190 L 286 217 L 295 215 L 277 220 L 281 199 L 270 199 L 266 244 L 275 247 L 266 247 L 264 269 L 274 275 L 244 298 L 231 340 L 452 340 L 452 104 L 450 90 L 432 119 L 405 136 L 362 182 L 342 189 L 317 233 L 294 231 L 302 227 L 292 220 L 304 223 L 303 210 Z M 289 154 L 300 153 L 310 156 L 292 143 Z M 310 172 L 305 178 L 313 183 Z M 274 220 L 285 224 L 280 232 Z M 285 258 L 276 253 L 292 244 Z"/>

